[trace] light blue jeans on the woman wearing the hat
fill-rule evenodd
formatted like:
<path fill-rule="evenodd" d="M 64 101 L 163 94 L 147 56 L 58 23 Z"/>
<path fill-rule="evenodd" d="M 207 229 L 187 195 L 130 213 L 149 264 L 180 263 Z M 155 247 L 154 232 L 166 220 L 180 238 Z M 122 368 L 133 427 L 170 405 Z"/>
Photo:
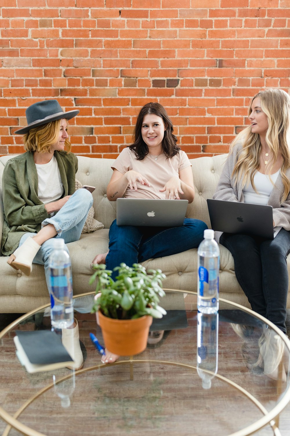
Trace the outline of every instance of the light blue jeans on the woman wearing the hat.
<path fill-rule="evenodd" d="M 53 217 L 47 218 L 42 222 L 42 227 L 47 224 L 52 224 L 57 231 L 55 238 L 63 238 L 66 244 L 68 242 L 78 241 L 92 204 L 92 194 L 87 191 L 87 189 L 78 189 Z M 33 236 L 35 236 L 35 233 L 25 233 L 20 239 L 19 247 L 27 238 L 32 238 Z M 37 255 L 33 259 L 33 263 L 44 265 L 47 289 L 49 289 L 50 286 L 48 259 L 50 253 L 53 251 L 53 239 L 54 238 L 51 238 L 43 242 Z M 65 249 L 67 253 L 69 253 L 67 246 Z"/>

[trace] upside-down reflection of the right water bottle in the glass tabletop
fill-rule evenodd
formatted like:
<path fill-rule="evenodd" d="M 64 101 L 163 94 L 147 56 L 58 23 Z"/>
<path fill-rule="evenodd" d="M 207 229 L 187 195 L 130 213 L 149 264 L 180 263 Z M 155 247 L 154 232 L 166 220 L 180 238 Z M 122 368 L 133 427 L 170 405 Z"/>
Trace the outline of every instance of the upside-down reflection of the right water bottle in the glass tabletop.
<path fill-rule="evenodd" d="M 197 313 L 197 374 L 203 389 L 211 388 L 217 374 L 218 313 Z"/>

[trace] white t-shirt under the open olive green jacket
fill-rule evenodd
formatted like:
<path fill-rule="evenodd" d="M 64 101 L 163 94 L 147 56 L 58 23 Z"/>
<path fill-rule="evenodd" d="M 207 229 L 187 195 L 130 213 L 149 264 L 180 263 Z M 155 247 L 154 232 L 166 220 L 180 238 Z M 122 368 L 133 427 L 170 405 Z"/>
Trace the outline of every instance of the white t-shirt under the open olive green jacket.
<path fill-rule="evenodd" d="M 38 176 L 38 198 L 43 204 L 58 200 L 63 194 L 63 184 L 57 160 L 53 156 L 47 164 L 35 164 Z"/>

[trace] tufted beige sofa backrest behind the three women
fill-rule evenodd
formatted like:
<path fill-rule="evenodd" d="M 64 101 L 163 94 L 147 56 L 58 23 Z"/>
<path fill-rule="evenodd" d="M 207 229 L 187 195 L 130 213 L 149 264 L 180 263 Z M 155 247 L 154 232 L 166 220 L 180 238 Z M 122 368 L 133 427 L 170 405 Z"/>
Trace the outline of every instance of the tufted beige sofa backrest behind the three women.
<path fill-rule="evenodd" d="M 12 156 L 0 157 L 0 232 L 3 225 L 3 203 L 2 203 L 2 173 L 4 165 Z M 197 218 L 205 221 L 210 227 L 210 219 L 207 211 L 207 198 L 212 198 L 217 186 L 223 164 L 227 155 L 213 157 L 199 157 L 191 159 L 193 181 L 195 187 L 195 198 L 187 208 L 188 218 Z M 76 178 L 82 183 L 95 186 L 93 192 L 94 218 L 101 221 L 105 228 L 109 228 L 116 218 L 116 202 L 107 199 L 107 184 L 113 174 L 111 166 L 113 159 L 99 159 L 78 156 L 79 168 Z M 2 208 L 2 209 L 1 209 Z"/>

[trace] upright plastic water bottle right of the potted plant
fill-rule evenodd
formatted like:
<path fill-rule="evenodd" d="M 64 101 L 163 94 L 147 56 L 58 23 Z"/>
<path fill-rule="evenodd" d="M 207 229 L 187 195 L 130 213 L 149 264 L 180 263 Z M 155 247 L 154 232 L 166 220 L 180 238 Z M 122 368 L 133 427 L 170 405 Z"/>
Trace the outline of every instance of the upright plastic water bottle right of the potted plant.
<path fill-rule="evenodd" d="M 219 310 L 220 249 L 211 229 L 204 231 L 197 255 L 197 309 L 202 313 Z"/>

